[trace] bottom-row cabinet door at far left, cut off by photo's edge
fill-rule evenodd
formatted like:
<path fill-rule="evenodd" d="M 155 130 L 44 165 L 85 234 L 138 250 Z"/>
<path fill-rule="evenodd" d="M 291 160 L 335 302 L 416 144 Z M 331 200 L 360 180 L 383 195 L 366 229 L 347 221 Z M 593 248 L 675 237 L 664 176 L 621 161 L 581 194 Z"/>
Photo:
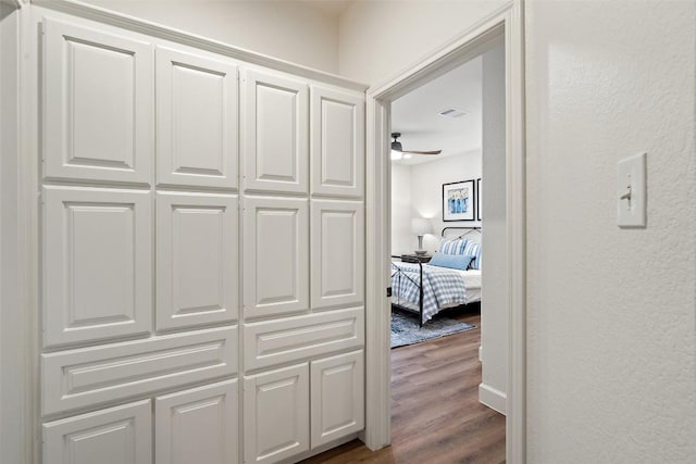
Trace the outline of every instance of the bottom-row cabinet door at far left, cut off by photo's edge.
<path fill-rule="evenodd" d="M 150 400 L 44 424 L 44 464 L 150 464 Z"/>

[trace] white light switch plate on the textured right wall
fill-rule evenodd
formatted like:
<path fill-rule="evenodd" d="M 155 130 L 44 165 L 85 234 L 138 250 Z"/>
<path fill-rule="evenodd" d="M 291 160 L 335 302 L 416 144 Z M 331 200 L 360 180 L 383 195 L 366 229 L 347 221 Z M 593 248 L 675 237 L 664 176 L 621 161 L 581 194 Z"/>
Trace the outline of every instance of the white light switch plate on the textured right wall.
<path fill-rule="evenodd" d="M 619 161 L 617 223 L 619 227 L 645 227 L 647 202 L 646 153 Z"/>

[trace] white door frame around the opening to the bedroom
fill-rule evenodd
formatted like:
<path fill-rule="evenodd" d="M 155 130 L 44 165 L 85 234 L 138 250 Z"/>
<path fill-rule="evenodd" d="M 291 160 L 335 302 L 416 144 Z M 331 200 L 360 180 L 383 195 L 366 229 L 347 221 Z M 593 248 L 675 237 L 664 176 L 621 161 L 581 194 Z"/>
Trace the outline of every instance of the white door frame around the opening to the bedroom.
<path fill-rule="evenodd" d="M 504 35 L 509 301 L 507 462 L 525 462 L 525 142 L 523 0 L 512 0 L 366 99 L 366 415 L 365 444 L 390 443 L 390 103 L 480 54 Z"/>

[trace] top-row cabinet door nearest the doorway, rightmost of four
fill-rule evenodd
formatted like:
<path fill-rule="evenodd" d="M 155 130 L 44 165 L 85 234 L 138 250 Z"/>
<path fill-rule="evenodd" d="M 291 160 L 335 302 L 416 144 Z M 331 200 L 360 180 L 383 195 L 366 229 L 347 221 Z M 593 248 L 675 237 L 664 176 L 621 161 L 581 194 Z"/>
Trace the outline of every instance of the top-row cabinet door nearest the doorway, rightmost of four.
<path fill-rule="evenodd" d="M 364 100 L 321 86 L 311 98 L 312 193 L 362 198 Z"/>

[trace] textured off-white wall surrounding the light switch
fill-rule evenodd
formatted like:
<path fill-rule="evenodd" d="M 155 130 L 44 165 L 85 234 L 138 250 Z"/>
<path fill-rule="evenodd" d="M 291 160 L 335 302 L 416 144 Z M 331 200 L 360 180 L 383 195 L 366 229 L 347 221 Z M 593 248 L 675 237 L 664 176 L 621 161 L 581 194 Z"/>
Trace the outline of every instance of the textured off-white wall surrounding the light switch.
<path fill-rule="evenodd" d="M 693 1 L 526 3 L 529 462 L 696 462 Z M 648 153 L 648 227 L 617 162 Z"/>

